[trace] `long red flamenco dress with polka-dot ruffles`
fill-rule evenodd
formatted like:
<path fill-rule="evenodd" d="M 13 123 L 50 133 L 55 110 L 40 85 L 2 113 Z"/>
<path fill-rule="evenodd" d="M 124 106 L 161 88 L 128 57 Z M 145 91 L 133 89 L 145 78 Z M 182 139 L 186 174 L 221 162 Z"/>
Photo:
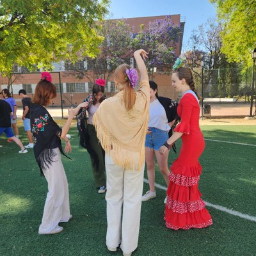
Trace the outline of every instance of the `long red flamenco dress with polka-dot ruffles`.
<path fill-rule="evenodd" d="M 200 107 L 193 91 L 180 99 L 177 113 L 181 122 L 174 131 L 183 133 L 182 146 L 170 168 L 164 220 L 166 227 L 175 230 L 205 228 L 212 225 L 212 218 L 198 189 L 202 170 L 198 159 L 205 143 L 199 127 Z"/>

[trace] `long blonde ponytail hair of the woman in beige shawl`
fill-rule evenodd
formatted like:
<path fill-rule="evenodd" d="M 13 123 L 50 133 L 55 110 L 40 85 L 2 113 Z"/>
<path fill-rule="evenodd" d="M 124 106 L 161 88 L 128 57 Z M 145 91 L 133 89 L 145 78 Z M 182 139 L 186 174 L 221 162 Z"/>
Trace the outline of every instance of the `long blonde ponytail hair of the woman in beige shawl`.
<path fill-rule="evenodd" d="M 127 111 L 131 110 L 132 107 L 135 104 L 136 95 L 134 92 L 134 88 L 129 85 L 129 81 L 125 79 L 127 77 L 127 74 L 125 73 L 125 70 L 130 69 L 131 67 L 127 64 L 119 65 L 114 73 L 116 81 L 120 83 L 119 90 L 124 90 L 124 106 L 127 109 Z"/>

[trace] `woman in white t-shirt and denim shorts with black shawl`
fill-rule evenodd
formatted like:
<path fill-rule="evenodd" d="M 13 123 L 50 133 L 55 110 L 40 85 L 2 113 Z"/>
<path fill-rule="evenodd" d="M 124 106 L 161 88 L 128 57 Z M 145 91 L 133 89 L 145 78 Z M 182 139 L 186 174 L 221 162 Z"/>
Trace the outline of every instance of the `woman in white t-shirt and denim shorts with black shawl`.
<path fill-rule="evenodd" d="M 147 201 L 156 197 L 155 190 L 155 156 L 160 172 L 163 174 L 166 185 L 169 185 L 168 169 L 169 151 L 165 154 L 159 153 L 159 148 L 172 135 L 172 126 L 177 120 L 177 102 L 172 99 L 159 97 L 157 93 L 157 84 L 149 81 L 150 85 L 150 103 L 148 132 L 145 142 L 145 159 L 147 164 L 147 175 L 149 189 L 142 196 L 142 201 Z M 164 200 L 166 203 L 166 199 Z"/>

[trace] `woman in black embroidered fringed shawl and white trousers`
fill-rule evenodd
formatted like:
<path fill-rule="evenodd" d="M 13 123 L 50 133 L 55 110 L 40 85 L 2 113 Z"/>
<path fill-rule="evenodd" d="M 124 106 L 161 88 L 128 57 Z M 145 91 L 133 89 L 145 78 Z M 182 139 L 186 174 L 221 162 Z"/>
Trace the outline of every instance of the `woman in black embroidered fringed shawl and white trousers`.
<path fill-rule="evenodd" d="M 42 72 L 42 79 L 35 88 L 31 100 L 31 131 L 35 143 L 34 154 L 41 175 L 48 182 L 48 193 L 44 206 L 42 223 L 38 234 L 56 234 L 63 230 L 58 223 L 67 222 L 72 218 L 69 208 L 68 183 L 61 154 L 71 152 L 70 141 L 66 138 L 68 129 L 80 108 L 70 109 L 68 120 L 61 129 L 45 108 L 56 97 L 56 87 L 51 83 L 51 74 Z M 65 153 L 61 147 L 61 139 L 65 141 Z"/>

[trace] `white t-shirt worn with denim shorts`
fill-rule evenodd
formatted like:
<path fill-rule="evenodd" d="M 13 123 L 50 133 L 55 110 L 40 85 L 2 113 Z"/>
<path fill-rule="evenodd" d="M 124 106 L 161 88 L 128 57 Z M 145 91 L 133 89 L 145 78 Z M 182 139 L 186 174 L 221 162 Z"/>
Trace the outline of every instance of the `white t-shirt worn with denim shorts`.
<path fill-rule="evenodd" d="M 170 130 L 166 112 L 158 99 L 149 102 L 148 127 L 154 127 L 163 131 Z"/>

